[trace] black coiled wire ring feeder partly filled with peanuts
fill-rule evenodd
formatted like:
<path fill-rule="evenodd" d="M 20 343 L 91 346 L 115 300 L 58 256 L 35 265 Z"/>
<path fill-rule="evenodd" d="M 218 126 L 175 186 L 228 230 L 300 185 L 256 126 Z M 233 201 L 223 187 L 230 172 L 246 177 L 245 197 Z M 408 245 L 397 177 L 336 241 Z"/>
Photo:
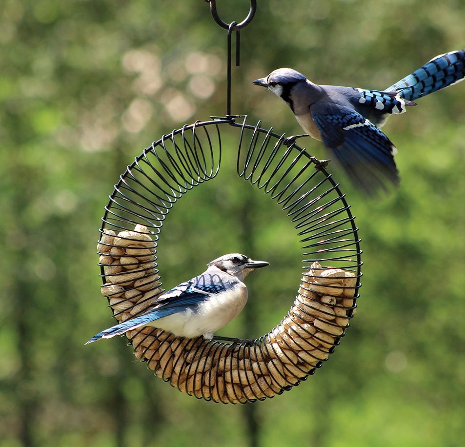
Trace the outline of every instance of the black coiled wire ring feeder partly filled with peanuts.
<path fill-rule="evenodd" d="M 238 122 L 239 120 L 239 122 Z M 236 132 L 237 174 L 279 203 L 298 230 L 303 276 L 287 315 L 256 340 L 222 343 L 175 337 L 145 326 L 126 333 L 138 359 L 171 386 L 198 399 L 245 403 L 298 385 L 339 345 L 360 287 L 360 240 L 331 174 L 284 136 L 212 117 L 164 135 L 120 176 L 102 218 L 101 292 L 118 322 L 141 315 L 163 292 L 157 241 L 169 210 L 187 191 L 214 179 L 222 132 Z"/>

